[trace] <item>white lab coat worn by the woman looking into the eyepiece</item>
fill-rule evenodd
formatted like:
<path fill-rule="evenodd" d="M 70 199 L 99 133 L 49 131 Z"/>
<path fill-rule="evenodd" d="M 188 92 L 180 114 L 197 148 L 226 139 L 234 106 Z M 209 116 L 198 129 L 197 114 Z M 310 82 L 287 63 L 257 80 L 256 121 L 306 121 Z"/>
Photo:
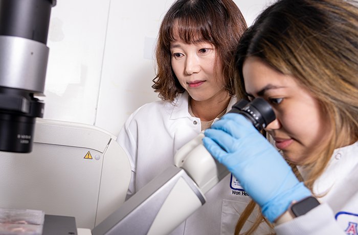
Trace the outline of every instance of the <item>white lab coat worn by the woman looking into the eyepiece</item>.
<path fill-rule="evenodd" d="M 277 234 L 358 234 L 358 142 L 334 151 L 313 191 L 324 195 L 318 198 L 322 204 L 276 226 Z"/>

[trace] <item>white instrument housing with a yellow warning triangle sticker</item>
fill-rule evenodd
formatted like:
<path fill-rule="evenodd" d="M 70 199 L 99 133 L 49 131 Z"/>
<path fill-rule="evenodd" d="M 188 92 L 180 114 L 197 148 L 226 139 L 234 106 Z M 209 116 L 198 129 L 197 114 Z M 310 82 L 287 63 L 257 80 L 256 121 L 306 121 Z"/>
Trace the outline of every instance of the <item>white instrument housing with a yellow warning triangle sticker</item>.
<path fill-rule="evenodd" d="M 0 207 L 73 216 L 92 229 L 123 204 L 130 165 L 100 128 L 37 119 L 31 153 L 0 152 L 0 178 Z"/>

